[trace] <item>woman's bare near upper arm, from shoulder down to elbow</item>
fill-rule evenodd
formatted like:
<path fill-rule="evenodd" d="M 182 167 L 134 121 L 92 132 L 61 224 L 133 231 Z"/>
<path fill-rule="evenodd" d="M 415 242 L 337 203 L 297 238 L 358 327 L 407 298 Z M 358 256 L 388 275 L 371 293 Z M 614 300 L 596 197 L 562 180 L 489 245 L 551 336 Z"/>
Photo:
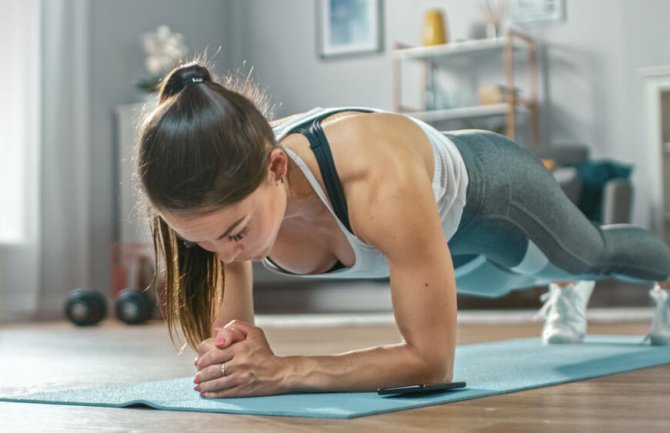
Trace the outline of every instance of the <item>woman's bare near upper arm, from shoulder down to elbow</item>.
<path fill-rule="evenodd" d="M 456 283 L 430 178 L 421 164 L 398 166 L 395 174 L 360 185 L 368 192 L 358 199 L 369 196 L 351 203 L 355 229 L 389 262 L 393 310 L 407 344 L 429 362 L 453 362 Z"/>

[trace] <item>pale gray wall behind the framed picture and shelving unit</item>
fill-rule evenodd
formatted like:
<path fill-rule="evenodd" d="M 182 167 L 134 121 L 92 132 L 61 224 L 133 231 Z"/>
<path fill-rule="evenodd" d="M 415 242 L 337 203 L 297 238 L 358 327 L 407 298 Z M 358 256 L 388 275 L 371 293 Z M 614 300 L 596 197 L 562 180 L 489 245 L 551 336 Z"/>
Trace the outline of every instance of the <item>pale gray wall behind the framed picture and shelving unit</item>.
<path fill-rule="evenodd" d="M 566 21 L 524 29 L 544 51 L 542 142 L 582 142 L 596 158 L 633 163 L 634 222 L 649 226 L 645 167 L 650 156 L 640 142 L 641 85 L 636 69 L 670 63 L 668 44 L 661 42 L 666 40 L 670 2 L 566 2 Z M 446 11 L 451 40 L 469 38 L 480 28 L 478 2 L 471 0 L 386 0 L 384 5 L 383 54 L 322 61 L 316 55 L 313 1 L 235 3 L 237 13 L 247 17 L 241 29 L 242 58 L 268 88 L 278 115 L 316 105 L 391 109 L 389 47 L 396 41 L 418 44 L 428 8 Z"/>

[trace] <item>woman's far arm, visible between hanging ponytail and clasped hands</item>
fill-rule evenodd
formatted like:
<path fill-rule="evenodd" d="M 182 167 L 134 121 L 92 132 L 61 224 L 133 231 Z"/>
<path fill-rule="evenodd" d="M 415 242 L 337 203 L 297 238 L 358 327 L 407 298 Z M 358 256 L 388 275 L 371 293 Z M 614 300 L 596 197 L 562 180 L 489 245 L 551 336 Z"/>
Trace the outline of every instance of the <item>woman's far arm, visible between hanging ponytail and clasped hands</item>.
<path fill-rule="evenodd" d="M 217 308 L 213 327 L 224 326 L 231 320 L 254 323 L 251 262 L 226 263 L 223 266 L 223 302 Z"/>

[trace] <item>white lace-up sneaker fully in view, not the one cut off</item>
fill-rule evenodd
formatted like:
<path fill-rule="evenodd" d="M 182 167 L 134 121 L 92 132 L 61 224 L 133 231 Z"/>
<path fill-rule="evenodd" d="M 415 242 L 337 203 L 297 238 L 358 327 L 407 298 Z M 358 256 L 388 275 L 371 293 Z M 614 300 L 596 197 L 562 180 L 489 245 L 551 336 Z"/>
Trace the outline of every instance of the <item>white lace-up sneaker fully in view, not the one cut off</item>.
<path fill-rule="evenodd" d="M 550 284 L 540 298 L 544 305 L 537 316 L 544 316 L 544 344 L 581 343 L 586 335 L 586 305 L 595 281 L 579 281 L 560 287 Z"/>

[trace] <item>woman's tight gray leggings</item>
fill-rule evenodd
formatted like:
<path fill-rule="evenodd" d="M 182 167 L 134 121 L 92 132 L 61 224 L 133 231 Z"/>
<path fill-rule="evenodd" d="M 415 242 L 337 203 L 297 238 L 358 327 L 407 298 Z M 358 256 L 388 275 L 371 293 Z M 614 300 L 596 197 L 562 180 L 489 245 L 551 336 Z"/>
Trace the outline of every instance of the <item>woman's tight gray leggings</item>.
<path fill-rule="evenodd" d="M 449 241 L 459 292 L 501 296 L 552 281 L 662 281 L 670 248 L 648 230 L 599 227 L 542 163 L 487 131 L 445 133 L 468 171 L 467 204 Z"/>

